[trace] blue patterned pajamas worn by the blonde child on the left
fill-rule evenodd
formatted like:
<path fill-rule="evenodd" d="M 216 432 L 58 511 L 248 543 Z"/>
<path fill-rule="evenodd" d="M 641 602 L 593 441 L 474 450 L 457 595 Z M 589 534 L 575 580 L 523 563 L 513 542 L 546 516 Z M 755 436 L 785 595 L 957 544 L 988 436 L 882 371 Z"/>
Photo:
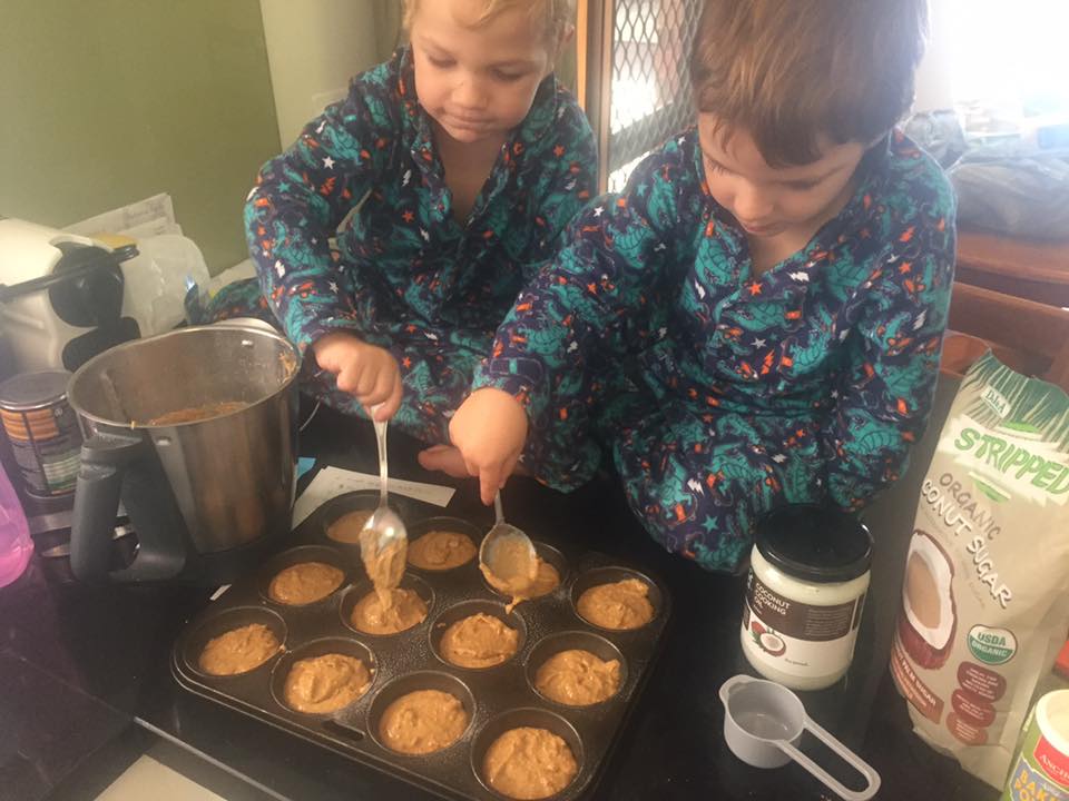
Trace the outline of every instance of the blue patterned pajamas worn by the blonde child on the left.
<path fill-rule="evenodd" d="M 389 349 L 404 384 L 394 424 L 448 442 L 445 415 L 470 392 L 523 284 L 590 199 L 596 170 L 590 126 L 550 76 L 458 222 L 402 48 L 355 77 L 343 101 L 263 167 L 245 207 L 258 281 L 224 288 L 208 318 L 258 316 L 302 352 L 336 330 Z M 332 377 L 312 373 L 306 390 L 362 414 Z"/>

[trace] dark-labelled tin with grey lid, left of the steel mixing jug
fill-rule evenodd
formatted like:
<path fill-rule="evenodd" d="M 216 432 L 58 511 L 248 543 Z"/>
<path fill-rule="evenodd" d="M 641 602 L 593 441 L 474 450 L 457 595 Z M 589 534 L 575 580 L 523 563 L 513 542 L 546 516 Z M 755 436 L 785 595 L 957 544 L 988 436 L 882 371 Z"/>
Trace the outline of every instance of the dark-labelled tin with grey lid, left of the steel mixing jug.
<path fill-rule="evenodd" d="M 67 403 L 70 374 L 23 373 L 0 384 L 0 421 L 28 495 L 70 495 L 78 479 L 81 428 Z"/>

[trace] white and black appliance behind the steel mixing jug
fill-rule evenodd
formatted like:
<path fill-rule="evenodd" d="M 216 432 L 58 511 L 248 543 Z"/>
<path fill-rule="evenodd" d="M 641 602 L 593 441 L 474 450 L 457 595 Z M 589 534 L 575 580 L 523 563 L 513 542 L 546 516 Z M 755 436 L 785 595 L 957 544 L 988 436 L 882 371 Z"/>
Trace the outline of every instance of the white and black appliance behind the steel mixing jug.
<path fill-rule="evenodd" d="M 0 329 L 18 372 L 75 370 L 140 336 L 124 315 L 120 264 L 133 245 L 94 239 L 0 217 Z"/>

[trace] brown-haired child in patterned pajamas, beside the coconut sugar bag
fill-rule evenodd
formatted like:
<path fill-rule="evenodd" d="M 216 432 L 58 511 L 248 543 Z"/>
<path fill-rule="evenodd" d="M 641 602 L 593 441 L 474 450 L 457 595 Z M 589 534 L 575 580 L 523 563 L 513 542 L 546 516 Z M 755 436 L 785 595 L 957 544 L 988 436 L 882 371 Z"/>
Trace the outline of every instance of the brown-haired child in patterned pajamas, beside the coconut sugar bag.
<path fill-rule="evenodd" d="M 923 431 L 954 200 L 893 129 L 924 0 L 707 0 L 697 125 L 577 218 L 450 425 L 488 502 L 517 459 L 569 490 L 611 453 L 670 551 L 737 570 L 785 503 L 863 506 Z"/>

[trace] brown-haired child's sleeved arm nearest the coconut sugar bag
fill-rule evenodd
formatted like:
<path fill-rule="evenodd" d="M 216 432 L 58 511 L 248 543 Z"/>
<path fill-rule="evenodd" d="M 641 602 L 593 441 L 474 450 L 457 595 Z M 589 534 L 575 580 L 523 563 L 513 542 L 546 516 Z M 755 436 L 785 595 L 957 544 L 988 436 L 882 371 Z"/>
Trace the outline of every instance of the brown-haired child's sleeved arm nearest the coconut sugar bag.
<path fill-rule="evenodd" d="M 827 492 L 860 508 L 905 469 L 910 445 L 924 433 L 939 376 L 940 346 L 954 273 L 954 201 L 940 197 L 895 233 L 892 255 L 872 279 L 859 346 L 836 388 L 824 433 Z"/>

